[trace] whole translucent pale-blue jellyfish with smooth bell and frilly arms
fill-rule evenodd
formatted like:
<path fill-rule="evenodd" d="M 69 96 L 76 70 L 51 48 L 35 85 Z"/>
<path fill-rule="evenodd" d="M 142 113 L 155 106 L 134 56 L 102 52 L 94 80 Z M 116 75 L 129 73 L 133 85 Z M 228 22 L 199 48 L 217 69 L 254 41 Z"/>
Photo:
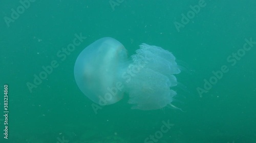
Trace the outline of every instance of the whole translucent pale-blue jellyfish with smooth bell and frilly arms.
<path fill-rule="evenodd" d="M 129 95 L 132 109 L 160 109 L 176 96 L 174 74 L 180 73 L 172 53 L 141 44 L 130 58 L 116 39 L 105 37 L 78 55 L 74 76 L 79 89 L 99 105 L 109 105 Z M 177 108 L 177 107 L 176 107 Z"/>

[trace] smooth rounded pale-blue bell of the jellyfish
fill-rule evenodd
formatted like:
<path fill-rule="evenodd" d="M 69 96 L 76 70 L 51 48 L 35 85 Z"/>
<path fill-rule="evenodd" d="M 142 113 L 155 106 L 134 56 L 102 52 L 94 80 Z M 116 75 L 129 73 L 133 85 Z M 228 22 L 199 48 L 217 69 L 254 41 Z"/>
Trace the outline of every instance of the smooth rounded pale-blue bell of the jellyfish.
<path fill-rule="evenodd" d="M 79 89 L 100 105 L 118 102 L 124 93 L 120 88 L 115 96 L 108 97 L 108 93 L 120 82 L 121 64 L 126 59 L 126 49 L 119 41 L 105 37 L 93 42 L 81 51 L 75 62 L 74 75 Z"/>

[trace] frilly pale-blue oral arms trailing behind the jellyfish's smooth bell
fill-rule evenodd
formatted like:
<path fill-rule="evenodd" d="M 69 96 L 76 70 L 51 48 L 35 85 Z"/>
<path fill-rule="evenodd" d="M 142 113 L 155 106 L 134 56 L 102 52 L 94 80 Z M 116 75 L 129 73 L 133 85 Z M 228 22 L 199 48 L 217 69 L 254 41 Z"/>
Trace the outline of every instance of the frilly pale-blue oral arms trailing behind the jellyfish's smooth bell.
<path fill-rule="evenodd" d="M 133 104 L 134 109 L 162 108 L 172 102 L 176 95 L 170 87 L 177 85 L 173 74 L 180 73 L 180 69 L 174 55 L 161 47 L 142 44 L 132 56 L 135 66 L 141 57 L 149 60 L 126 84 L 130 95 L 128 103 Z"/>

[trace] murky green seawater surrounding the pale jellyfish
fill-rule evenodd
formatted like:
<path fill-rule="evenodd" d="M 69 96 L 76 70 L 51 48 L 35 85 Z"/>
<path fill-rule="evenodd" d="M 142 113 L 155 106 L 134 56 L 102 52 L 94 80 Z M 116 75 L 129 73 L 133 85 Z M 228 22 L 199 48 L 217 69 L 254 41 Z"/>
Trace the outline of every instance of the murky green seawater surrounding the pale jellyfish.
<path fill-rule="evenodd" d="M 0 142 L 256 142 L 256 2 L 29 3 L 0 5 Z M 191 12 L 190 5 L 201 5 L 200 11 Z M 182 14 L 190 19 L 183 17 L 185 24 L 177 28 Z M 87 38 L 63 52 L 75 34 Z M 130 55 L 141 43 L 171 51 L 184 67 L 173 104 L 185 112 L 133 110 L 126 95 L 95 113 L 76 85 L 73 67 L 83 48 L 102 37 L 117 39 Z M 53 71 L 35 85 L 34 75 L 53 61 Z"/>

